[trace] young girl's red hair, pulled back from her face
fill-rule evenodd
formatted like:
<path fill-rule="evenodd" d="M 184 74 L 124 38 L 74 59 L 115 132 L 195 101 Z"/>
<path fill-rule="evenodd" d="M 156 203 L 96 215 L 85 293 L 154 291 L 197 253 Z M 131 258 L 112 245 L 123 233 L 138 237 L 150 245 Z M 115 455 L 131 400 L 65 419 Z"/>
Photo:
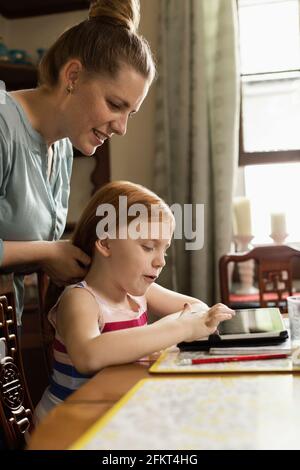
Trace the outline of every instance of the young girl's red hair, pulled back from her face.
<path fill-rule="evenodd" d="M 116 228 L 118 228 L 120 196 L 126 196 L 127 209 L 134 204 L 142 204 L 146 208 L 148 220 L 150 220 L 154 206 L 159 209 L 160 217 L 166 217 L 172 222 L 172 226 L 174 226 L 174 216 L 170 207 L 157 194 L 144 186 L 129 181 L 113 181 L 96 191 L 84 209 L 73 234 L 73 244 L 85 251 L 89 256 L 93 255 L 95 242 L 98 239 L 96 227 L 101 220 L 101 217 L 96 215 L 98 206 L 110 204 L 114 207 Z M 127 214 L 127 223 L 135 217 Z"/>

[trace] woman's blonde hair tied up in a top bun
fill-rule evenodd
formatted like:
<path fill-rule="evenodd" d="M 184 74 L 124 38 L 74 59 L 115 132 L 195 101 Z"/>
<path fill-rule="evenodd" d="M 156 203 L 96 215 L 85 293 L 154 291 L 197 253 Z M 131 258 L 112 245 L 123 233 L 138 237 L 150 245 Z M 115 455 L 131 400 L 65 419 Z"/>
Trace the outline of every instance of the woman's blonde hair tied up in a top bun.
<path fill-rule="evenodd" d="M 92 1 L 88 19 L 65 31 L 42 58 L 40 85 L 55 87 L 69 59 L 80 60 L 90 74 L 112 78 L 126 64 L 152 82 L 154 58 L 146 39 L 137 33 L 139 22 L 139 0 Z"/>

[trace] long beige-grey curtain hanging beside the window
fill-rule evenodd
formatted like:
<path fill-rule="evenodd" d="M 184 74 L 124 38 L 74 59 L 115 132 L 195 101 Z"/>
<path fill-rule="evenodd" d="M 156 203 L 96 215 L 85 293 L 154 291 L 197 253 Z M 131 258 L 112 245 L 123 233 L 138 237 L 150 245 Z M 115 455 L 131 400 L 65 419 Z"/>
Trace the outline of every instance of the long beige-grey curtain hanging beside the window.
<path fill-rule="evenodd" d="M 212 303 L 218 259 L 230 248 L 238 161 L 239 74 L 235 0 L 164 0 L 154 186 L 170 204 L 204 204 L 204 246 L 170 249 L 162 284 Z"/>

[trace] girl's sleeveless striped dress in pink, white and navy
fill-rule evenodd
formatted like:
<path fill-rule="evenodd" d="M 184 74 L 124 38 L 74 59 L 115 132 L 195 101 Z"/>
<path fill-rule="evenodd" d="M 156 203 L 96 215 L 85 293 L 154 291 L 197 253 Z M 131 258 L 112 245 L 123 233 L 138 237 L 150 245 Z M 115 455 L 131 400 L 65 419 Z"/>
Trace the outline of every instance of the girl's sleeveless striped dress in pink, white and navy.
<path fill-rule="evenodd" d="M 138 305 L 138 311 L 120 309 L 107 304 L 99 297 L 85 281 L 68 286 L 66 290 L 82 288 L 90 292 L 99 305 L 99 333 L 123 330 L 147 324 L 146 298 L 130 296 Z M 63 293 L 64 294 L 64 293 Z M 63 295 L 62 294 L 62 295 Z M 62 297 L 62 296 L 61 296 Z M 56 314 L 61 297 L 50 310 L 48 319 L 55 329 L 53 343 L 53 373 L 49 387 L 45 390 L 39 404 L 35 409 L 35 422 L 38 423 L 54 406 L 65 400 L 72 392 L 83 385 L 91 376 L 78 372 L 71 362 L 62 338 L 56 330 Z M 83 314 L 88 314 L 83 312 Z"/>

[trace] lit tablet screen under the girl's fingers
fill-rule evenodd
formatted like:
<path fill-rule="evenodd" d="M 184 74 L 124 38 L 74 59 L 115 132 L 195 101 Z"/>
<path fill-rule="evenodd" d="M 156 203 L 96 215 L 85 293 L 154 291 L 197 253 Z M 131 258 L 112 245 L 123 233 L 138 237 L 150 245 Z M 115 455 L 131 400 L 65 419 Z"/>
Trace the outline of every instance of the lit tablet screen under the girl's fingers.
<path fill-rule="evenodd" d="M 278 308 L 236 310 L 235 316 L 231 320 L 223 321 L 218 326 L 221 336 L 279 333 L 284 329 L 284 323 Z"/>

